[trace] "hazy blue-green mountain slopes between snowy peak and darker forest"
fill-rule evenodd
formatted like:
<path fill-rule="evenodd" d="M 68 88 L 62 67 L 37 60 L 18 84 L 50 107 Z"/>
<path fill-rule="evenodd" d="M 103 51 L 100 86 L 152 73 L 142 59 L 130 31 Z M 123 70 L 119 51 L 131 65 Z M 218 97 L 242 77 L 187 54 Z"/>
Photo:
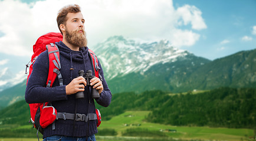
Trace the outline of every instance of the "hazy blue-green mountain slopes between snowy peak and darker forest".
<path fill-rule="evenodd" d="M 188 57 L 188 56 L 187 56 Z M 241 51 L 224 58 L 208 61 L 189 56 L 175 62 L 157 63 L 146 72 L 133 72 L 108 80 L 113 93 L 145 90 L 188 92 L 219 87 L 255 88 L 256 49 Z"/>

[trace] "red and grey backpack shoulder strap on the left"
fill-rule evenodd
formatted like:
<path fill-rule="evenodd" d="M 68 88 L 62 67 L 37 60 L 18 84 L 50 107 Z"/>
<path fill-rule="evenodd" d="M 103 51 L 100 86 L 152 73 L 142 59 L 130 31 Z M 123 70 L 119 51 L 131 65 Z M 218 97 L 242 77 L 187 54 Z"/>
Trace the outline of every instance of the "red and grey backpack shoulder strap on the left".
<path fill-rule="evenodd" d="M 49 56 L 49 73 L 47 78 L 47 87 L 52 87 L 52 84 L 56 77 L 58 76 L 58 80 L 60 82 L 60 86 L 63 85 L 63 78 L 60 73 L 61 65 L 60 65 L 60 52 L 58 50 L 58 46 L 54 43 L 51 45 L 46 45 L 48 56 Z"/>

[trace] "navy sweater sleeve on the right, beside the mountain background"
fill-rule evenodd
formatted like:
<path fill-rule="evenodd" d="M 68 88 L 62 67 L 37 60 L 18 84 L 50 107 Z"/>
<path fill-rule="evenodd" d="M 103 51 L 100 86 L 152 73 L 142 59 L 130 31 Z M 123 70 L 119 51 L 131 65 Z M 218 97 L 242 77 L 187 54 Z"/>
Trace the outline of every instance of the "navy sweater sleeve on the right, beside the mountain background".
<path fill-rule="evenodd" d="M 98 60 L 98 62 L 99 62 L 99 66 L 100 66 L 100 75 L 102 76 L 102 80 L 103 80 L 102 81 L 103 91 L 100 94 L 100 98 L 96 99 L 96 102 L 101 106 L 107 107 L 110 105 L 112 95 L 111 95 L 109 86 L 107 86 L 107 82 L 104 78 L 103 69 L 100 65 L 100 61 Z"/>

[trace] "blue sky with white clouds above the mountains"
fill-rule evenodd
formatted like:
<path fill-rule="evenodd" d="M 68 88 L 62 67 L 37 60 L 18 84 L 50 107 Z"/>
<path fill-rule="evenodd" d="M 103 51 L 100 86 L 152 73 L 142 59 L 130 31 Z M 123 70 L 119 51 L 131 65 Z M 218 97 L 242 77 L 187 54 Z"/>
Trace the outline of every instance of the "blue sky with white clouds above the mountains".
<path fill-rule="evenodd" d="M 0 85 L 6 71 L 25 76 L 32 45 L 59 32 L 58 10 L 69 4 L 81 6 L 91 49 L 114 35 L 167 39 L 210 60 L 256 48 L 256 0 L 0 0 Z"/>

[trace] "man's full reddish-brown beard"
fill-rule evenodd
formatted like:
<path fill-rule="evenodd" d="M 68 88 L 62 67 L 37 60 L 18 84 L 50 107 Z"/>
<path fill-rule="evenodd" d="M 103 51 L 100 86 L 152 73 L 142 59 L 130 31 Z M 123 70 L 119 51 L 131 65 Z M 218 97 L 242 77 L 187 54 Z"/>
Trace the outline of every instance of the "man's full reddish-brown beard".
<path fill-rule="evenodd" d="M 78 33 L 81 30 L 83 30 L 83 33 Z M 65 40 L 71 45 L 78 46 L 79 48 L 87 46 L 86 32 L 83 28 L 78 28 L 71 32 L 68 32 L 67 30 L 65 33 Z"/>

